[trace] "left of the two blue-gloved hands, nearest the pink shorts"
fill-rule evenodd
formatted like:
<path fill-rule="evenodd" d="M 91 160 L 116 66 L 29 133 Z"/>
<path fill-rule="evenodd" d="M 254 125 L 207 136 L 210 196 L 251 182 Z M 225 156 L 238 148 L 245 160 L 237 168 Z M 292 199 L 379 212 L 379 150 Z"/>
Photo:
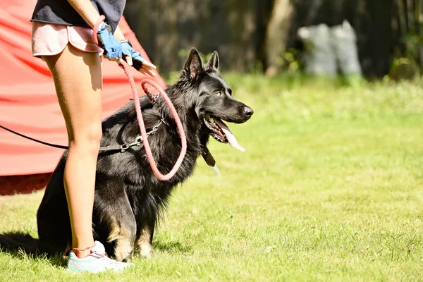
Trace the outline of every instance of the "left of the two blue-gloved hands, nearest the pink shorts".
<path fill-rule="evenodd" d="M 118 61 L 122 58 L 122 45 L 111 33 L 111 26 L 102 23 L 97 30 L 99 47 L 104 49 L 103 56 L 111 61 Z"/>

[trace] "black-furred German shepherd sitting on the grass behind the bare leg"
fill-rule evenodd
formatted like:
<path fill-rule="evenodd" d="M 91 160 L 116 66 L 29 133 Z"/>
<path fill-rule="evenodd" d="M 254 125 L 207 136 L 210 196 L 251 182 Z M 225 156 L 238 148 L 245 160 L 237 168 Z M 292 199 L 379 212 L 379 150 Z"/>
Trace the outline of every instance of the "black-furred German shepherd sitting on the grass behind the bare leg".
<path fill-rule="evenodd" d="M 125 153 L 101 152 L 97 161 L 93 231 L 94 237 L 105 243 L 109 255 L 119 261 L 130 259 L 134 245 L 141 255 L 152 255 L 152 238 L 159 210 L 173 188 L 183 183 L 195 168 L 197 157 L 207 148 L 209 136 L 216 133 L 204 123 L 210 116 L 231 123 L 243 123 L 252 109 L 231 97 L 231 89 L 219 75 L 219 56 L 212 54 L 203 65 L 196 49 L 190 51 L 175 85 L 166 93 L 178 111 L 187 137 L 185 159 L 171 180 L 154 176 L 145 156 L 144 147 L 131 147 Z M 161 173 L 168 173 L 180 154 L 180 136 L 163 99 L 154 105 L 146 97 L 140 99 L 147 129 L 159 125 L 149 135 L 154 159 Z M 134 142 L 139 135 L 134 102 L 129 102 L 103 122 L 102 146 Z M 221 140 L 222 141 L 222 140 Z M 225 141 L 225 140 L 223 140 Z M 37 212 L 39 241 L 28 235 L 0 236 L 1 247 L 23 247 L 53 254 L 66 252 L 71 243 L 71 224 L 63 187 L 63 171 L 67 152 L 52 174 Z"/>

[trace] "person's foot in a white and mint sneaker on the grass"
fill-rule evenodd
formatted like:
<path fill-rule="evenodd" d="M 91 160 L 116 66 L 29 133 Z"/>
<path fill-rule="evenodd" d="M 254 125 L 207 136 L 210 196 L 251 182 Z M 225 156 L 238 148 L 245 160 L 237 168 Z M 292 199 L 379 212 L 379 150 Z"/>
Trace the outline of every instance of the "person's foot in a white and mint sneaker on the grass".
<path fill-rule="evenodd" d="M 116 262 L 116 260 L 106 257 L 104 245 L 98 241 L 95 241 L 95 246 L 92 247 L 91 254 L 87 257 L 80 259 L 71 251 L 68 259 L 68 270 L 75 272 L 121 271 L 132 265 L 125 262 Z"/>

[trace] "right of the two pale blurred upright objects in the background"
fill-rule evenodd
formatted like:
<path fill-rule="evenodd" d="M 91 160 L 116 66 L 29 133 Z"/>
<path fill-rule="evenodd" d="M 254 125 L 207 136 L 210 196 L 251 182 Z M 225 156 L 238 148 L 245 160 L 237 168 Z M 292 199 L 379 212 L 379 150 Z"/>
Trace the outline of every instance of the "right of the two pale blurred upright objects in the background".
<path fill-rule="evenodd" d="M 344 20 L 342 25 L 331 27 L 331 42 L 343 75 L 362 74 L 358 59 L 357 35 L 354 28 Z"/>

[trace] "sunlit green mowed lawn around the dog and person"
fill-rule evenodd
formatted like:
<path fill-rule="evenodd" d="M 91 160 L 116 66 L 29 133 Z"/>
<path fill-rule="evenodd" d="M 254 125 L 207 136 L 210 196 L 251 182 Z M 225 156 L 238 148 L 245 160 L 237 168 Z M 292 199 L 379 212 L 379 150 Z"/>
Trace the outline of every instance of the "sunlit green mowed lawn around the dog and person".
<path fill-rule="evenodd" d="M 153 259 L 71 274 L 0 252 L 0 281 L 422 281 L 423 84 L 223 75 L 255 114 L 211 140 L 173 194 Z M 0 188 L 1 189 L 1 188 Z M 0 232 L 37 236 L 42 191 L 0 197 Z"/>

